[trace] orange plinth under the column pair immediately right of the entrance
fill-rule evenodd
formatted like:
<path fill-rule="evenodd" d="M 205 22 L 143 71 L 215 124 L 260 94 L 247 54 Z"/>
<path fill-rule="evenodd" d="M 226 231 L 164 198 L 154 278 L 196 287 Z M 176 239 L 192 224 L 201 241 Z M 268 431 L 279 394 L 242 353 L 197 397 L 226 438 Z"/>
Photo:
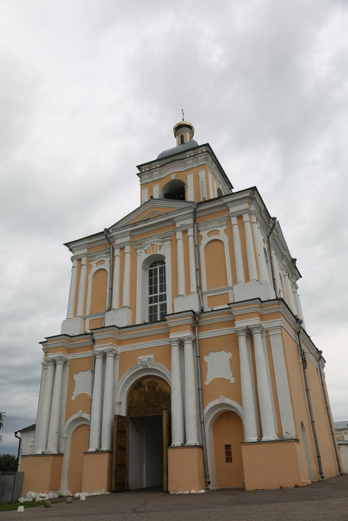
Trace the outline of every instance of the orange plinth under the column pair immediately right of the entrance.
<path fill-rule="evenodd" d="M 206 489 L 202 447 L 168 447 L 169 492 Z"/>

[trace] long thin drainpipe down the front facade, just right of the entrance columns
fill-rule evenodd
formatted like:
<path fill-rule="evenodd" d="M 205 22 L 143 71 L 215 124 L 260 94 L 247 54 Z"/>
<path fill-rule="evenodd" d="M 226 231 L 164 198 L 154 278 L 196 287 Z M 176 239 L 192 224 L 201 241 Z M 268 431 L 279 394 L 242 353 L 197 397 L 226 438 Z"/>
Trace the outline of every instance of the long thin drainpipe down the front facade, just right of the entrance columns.
<path fill-rule="evenodd" d="M 204 311 L 203 299 L 201 295 L 201 286 L 199 284 L 199 261 L 198 261 L 198 241 L 197 241 L 197 204 L 193 204 L 193 231 L 194 231 L 194 258 L 196 262 L 196 286 L 199 297 L 200 312 L 195 313 L 194 320 L 194 336 L 196 344 L 196 360 L 197 360 L 197 380 L 198 380 L 198 401 L 199 401 L 199 420 L 201 422 L 201 437 L 203 443 L 203 455 L 204 455 L 204 468 L 206 470 L 206 485 L 210 485 L 209 465 L 208 465 L 208 452 L 206 448 L 206 426 L 204 422 L 204 408 L 203 408 L 203 396 L 202 396 L 202 383 L 201 383 L 201 356 L 199 355 L 199 340 L 198 340 L 198 326 L 199 326 L 199 315 Z"/>

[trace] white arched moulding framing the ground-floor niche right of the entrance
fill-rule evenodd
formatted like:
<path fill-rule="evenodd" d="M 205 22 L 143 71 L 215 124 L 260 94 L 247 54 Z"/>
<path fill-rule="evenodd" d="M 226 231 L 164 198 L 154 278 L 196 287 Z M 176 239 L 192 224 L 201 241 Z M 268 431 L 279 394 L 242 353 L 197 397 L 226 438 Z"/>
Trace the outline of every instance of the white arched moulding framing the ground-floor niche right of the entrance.
<path fill-rule="evenodd" d="M 238 416 L 240 417 L 242 422 L 244 421 L 242 406 L 229 398 L 225 398 L 224 396 L 220 396 L 219 398 L 213 400 L 213 402 L 210 402 L 204 408 L 206 446 L 207 446 L 207 456 L 208 456 L 208 468 L 209 468 L 209 474 L 210 474 L 209 488 L 217 487 L 213 427 L 214 427 L 214 423 L 215 423 L 215 420 L 217 419 L 217 417 L 226 411 L 232 411 L 233 413 L 238 414 Z M 244 424 L 243 424 L 243 427 L 244 427 Z"/>

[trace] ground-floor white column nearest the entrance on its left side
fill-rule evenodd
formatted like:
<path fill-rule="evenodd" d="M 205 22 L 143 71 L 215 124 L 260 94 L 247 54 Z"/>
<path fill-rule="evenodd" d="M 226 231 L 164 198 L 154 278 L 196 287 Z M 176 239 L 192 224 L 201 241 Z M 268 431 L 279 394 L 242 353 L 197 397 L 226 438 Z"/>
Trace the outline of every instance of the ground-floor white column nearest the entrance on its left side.
<path fill-rule="evenodd" d="M 101 424 L 101 450 L 112 449 L 113 433 L 113 393 L 114 393 L 114 359 L 112 349 L 106 351 L 106 369 L 103 399 L 103 421 Z"/>

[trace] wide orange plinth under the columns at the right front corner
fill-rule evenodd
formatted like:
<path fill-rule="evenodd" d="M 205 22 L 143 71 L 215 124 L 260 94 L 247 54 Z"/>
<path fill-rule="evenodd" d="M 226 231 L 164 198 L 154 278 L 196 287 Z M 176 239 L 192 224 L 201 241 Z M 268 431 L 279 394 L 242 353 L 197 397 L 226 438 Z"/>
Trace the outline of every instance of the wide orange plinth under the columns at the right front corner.
<path fill-rule="evenodd" d="M 303 486 L 298 440 L 242 443 L 245 490 Z"/>

